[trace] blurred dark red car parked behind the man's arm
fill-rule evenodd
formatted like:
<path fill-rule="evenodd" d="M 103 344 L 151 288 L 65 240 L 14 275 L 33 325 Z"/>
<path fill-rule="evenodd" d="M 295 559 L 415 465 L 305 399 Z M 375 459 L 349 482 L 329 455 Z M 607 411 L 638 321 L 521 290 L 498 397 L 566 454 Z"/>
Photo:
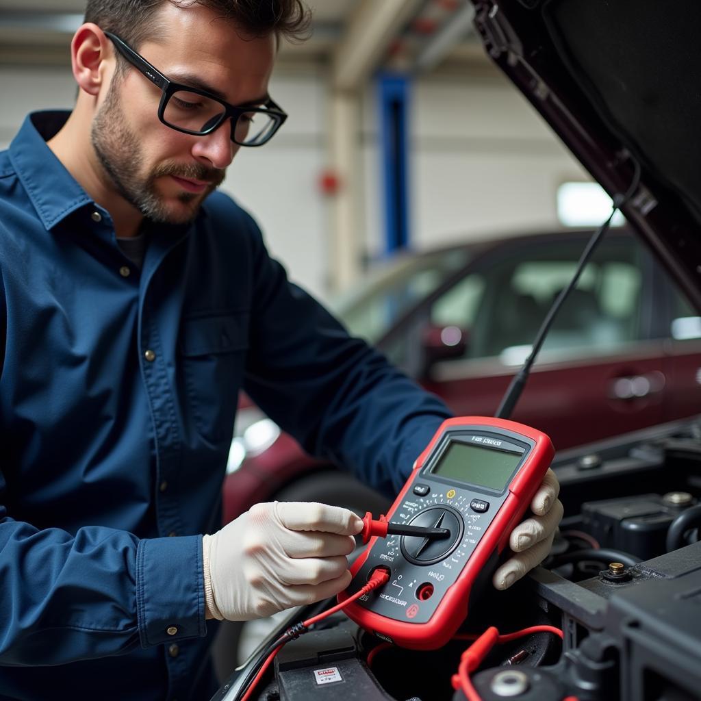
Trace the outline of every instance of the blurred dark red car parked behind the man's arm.
<path fill-rule="evenodd" d="M 334 308 L 353 334 L 455 414 L 494 415 L 590 236 L 557 231 L 407 255 Z M 699 406 L 701 318 L 639 238 L 610 231 L 550 329 L 512 418 L 563 449 L 689 416 Z M 361 512 L 384 505 L 243 402 L 225 518 L 273 498 Z"/>

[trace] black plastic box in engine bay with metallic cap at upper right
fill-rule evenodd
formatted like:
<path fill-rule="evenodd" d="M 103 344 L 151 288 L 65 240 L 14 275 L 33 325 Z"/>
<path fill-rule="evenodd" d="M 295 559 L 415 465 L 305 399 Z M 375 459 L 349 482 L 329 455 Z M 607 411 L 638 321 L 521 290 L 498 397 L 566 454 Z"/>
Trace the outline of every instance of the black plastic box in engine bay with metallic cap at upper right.
<path fill-rule="evenodd" d="M 665 552 L 669 525 L 683 510 L 695 505 L 687 492 L 640 494 L 582 505 L 583 527 L 601 547 L 611 547 L 641 559 Z"/>

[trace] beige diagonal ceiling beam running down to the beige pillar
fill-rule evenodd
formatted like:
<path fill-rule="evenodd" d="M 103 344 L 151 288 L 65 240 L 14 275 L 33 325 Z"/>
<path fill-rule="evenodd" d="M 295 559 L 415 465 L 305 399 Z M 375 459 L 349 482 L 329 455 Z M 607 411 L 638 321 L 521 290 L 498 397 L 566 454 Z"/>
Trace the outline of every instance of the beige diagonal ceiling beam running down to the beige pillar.
<path fill-rule="evenodd" d="M 332 58 L 336 90 L 357 90 L 425 0 L 360 0 Z"/>

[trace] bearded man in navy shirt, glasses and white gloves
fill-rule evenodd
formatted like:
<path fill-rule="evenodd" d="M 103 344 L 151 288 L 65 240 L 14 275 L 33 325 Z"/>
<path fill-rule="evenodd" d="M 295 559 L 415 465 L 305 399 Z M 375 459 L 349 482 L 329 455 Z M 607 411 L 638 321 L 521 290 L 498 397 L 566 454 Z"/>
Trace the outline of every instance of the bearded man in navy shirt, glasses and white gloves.
<path fill-rule="evenodd" d="M 208 699 L 208 618 L 348 584 L 347 510 L 261 504 L 217 531 L 240 386 L 388 493 L 449 416 L 213 193 L 284 121 L 268 79 L 305 21 L 297 0 L 90 0 L 75 109 L 0 154 L 2 699 Z M 498 588 L 550 548 L 552 474 L 533 509 Z"/>

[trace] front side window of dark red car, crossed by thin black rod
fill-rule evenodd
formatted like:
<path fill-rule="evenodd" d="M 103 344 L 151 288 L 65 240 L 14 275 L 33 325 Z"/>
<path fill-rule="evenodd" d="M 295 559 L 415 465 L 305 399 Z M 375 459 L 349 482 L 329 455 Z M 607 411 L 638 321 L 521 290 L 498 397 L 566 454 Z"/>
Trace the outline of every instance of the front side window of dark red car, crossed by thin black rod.
<path fill-rule="evenodd" d="M 467 358 L 522 362 L 554 299 L 569 284 L 584 240 L 512 246 L 436 301 L 433 325 L 468 333 Z M 632 238 L 601 243 L 545 340 L 544 351 L 606 351 L 639 338 L 642 273 Z"/>

